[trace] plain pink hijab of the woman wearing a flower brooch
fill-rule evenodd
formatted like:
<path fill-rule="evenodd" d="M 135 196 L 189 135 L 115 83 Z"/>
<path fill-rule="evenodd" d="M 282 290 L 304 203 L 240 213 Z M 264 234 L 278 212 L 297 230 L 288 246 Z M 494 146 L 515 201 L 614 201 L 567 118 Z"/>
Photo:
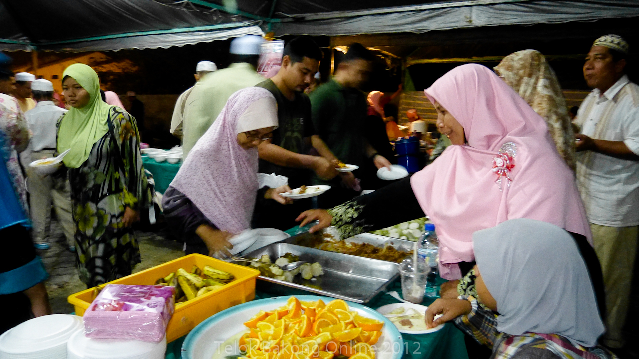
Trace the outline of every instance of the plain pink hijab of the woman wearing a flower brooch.
<path fill-rule="evenodd" d="M 513 218 L 548 222 L 592 241 L 573 173 L 544 119 L 495 73 L 481 65 L 459 66 L 424 93 L 459 121 L 468 142 L 449 146 L 411 179 L 422 210 L 436 225 L 443 278 L 459 279 L 456 263 L 474 260 L 475 231 Z M 501 177 L 499 185 L 493 160 L 502 148 L 515 150 L 514 167 L 512 181 Z"/>

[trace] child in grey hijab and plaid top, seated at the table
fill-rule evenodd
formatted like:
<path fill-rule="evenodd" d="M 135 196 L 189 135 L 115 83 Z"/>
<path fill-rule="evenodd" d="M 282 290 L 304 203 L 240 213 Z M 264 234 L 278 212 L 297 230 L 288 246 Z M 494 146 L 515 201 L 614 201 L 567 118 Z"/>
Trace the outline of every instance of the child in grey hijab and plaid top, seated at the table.
<path fill-rule="evenodd" d="M 520 218 L 473 234 L 477 296 L 440 298 L 427 326 L 454 323 L 491 358 L 611 358 L 589 271 L 578 246 L 556 225 Z M 436 314 L 442 317 L 433 320 Z"/>

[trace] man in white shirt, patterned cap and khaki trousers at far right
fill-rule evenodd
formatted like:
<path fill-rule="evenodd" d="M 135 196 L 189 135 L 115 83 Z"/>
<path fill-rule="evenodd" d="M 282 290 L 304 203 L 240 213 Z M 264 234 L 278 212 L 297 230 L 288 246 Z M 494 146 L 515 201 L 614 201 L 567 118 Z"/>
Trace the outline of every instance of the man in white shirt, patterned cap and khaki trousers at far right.
<path fill-rule="evenodd" d="M 639 225 L 639 86 L 624 73 L 627 43 L 595 40 L 583 65 L 594 88 L 574 119 L 576 180 L 606 291 L 604 344 L 621 348 Z"/>

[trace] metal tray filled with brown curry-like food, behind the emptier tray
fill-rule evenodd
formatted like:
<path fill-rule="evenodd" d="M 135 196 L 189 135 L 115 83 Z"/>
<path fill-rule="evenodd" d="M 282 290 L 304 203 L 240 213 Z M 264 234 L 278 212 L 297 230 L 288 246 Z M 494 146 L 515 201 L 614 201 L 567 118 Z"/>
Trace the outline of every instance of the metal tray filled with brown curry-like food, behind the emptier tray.
<path fill-rule="evenodd" d="M 357 236 L 339 240 L 339 234 L 334 227 L 328 227 L 316 233 L 296 234 L 286 238 L 284 242 L 396 263 L 400 263 L 406 256 L 413 253 L 415 243 L 373 233 L 357 234 Z"/>

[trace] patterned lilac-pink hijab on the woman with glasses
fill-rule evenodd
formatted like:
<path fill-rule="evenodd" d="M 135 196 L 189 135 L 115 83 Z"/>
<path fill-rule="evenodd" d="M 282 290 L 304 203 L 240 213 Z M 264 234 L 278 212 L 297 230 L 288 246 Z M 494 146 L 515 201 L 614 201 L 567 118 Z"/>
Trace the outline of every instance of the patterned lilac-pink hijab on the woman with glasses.
<path fill-rule="evenodd" d="M 243 149 L 237 135 L 270 126 L 277 127 L 273 95 L 263 88 L 237 91 L 191 149 L 171 186 L 220 230 L 237 234 L 250 228 L 258 192 L 258 148 Z"/>

